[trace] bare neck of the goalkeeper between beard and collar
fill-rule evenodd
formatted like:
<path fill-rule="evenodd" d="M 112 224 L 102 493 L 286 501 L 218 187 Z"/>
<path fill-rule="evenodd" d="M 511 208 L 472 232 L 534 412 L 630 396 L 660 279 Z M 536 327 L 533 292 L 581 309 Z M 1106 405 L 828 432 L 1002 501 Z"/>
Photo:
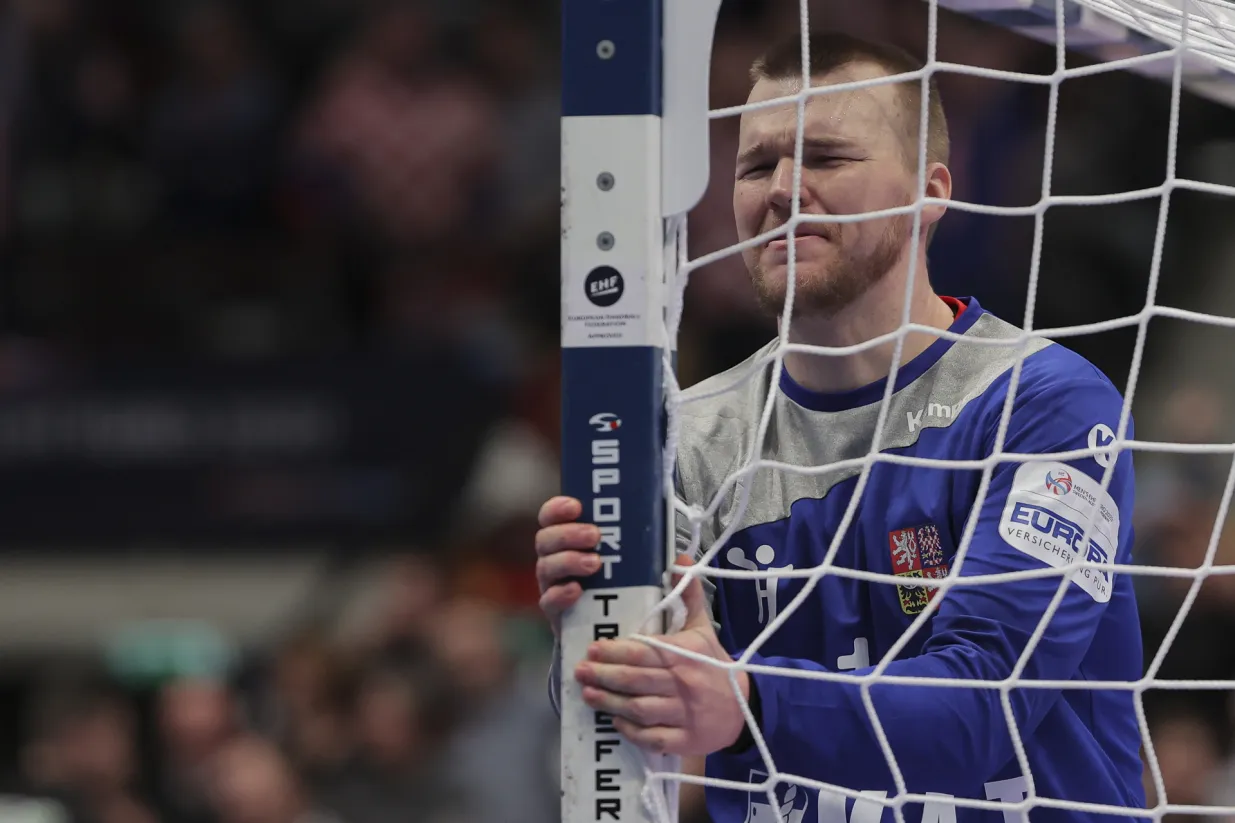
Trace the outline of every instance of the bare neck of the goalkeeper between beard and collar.
<path fill-rule="evenodd" d="M 862 297 L 834 315 L 794 318 L 789 326 L 789 342 L 810 346 L 853 346 L 900 327 L 905 279 L 895 273 L 908 273 L 908 260 L 895 263 L 887 277 Z M 914 271 L 916 282 L 910 298 L 909 323 L 932 329 L 952 325 L 952 310 L 944 303 L 926 277 L 926 253 L 919 253 Z M 900 365 L 923 353 L 935 342 L 936 335 L 913 331 L 905 335 Z M 847 392 L 885 378 L 892 372 L 895 340 L 879 344 L 852 355 L 811 355 L 788 352 L 784 367 L 799 386 L 813 392 Z"/>

